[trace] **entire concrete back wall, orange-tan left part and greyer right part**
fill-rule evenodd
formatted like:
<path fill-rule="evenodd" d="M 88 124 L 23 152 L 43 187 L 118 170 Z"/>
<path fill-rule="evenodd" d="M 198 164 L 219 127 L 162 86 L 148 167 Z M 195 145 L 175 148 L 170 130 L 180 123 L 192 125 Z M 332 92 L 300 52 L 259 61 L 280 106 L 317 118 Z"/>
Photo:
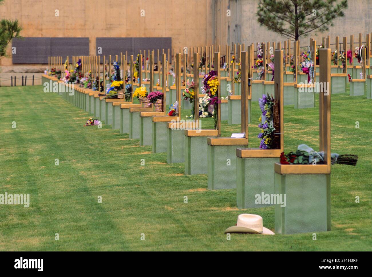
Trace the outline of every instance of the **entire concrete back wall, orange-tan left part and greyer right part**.
<path fill-rule="evenodd" d="M 185 46 L 284 41 L 280 35 L 260 27 L 256 18 L 259 0 L 6 0 L 0 18 L 19 19 L 25 37 L 89 37 L 90 54 L 96 50 L 96 37 L 171 37 L 177 51 Z M 55 10 L 59 16 L 55 16 Z M 141 10 L 145 16 L 140 16 Z M 227 9 L 231 16 L 227 16 Z M 334 21 L 321 37 L 365 34 L 372 31 L 371 0 L 349 0 L 345 17 Z M 300 38 L 307 45 L 309 37 Z M 11 45 L 10 45 L 11 46 Z M 10 47 L 8 47 L 10 54 Z M 11 54 L 10 54 L 11 55 Z M 0 59 L 11 66 L 12 59 Z"/>

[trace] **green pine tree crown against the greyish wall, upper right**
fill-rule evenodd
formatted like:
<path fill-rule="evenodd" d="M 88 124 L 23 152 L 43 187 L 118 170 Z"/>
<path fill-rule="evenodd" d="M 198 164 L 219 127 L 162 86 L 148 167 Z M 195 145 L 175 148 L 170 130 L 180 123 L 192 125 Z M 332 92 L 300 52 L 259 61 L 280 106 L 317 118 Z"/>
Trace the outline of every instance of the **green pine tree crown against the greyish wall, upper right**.
<path fill-rule="evenodd" d="M 256 15 L 261 26 L 298 40 L 315 30 L 328 31 L 345 8 L 347 0 L 260 0 Z"/>

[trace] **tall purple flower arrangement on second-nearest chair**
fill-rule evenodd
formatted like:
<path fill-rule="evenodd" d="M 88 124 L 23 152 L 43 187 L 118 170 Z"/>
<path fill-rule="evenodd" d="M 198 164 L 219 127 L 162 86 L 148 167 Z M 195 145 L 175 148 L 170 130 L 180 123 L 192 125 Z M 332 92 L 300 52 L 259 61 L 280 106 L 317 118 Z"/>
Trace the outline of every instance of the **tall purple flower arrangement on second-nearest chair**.
<path fill-rule="evenodd" d="M 259 99 L 259 105 L 262 111 L 262 116 L 259 118 L 258 127 L 261 128 L 261 133 L 258 134 L 258 138 L 261 139 L 261 149 L 273 149 L 274 145 L 274 105 L 275 100 L 267 95 L 262 95 Z"/>

